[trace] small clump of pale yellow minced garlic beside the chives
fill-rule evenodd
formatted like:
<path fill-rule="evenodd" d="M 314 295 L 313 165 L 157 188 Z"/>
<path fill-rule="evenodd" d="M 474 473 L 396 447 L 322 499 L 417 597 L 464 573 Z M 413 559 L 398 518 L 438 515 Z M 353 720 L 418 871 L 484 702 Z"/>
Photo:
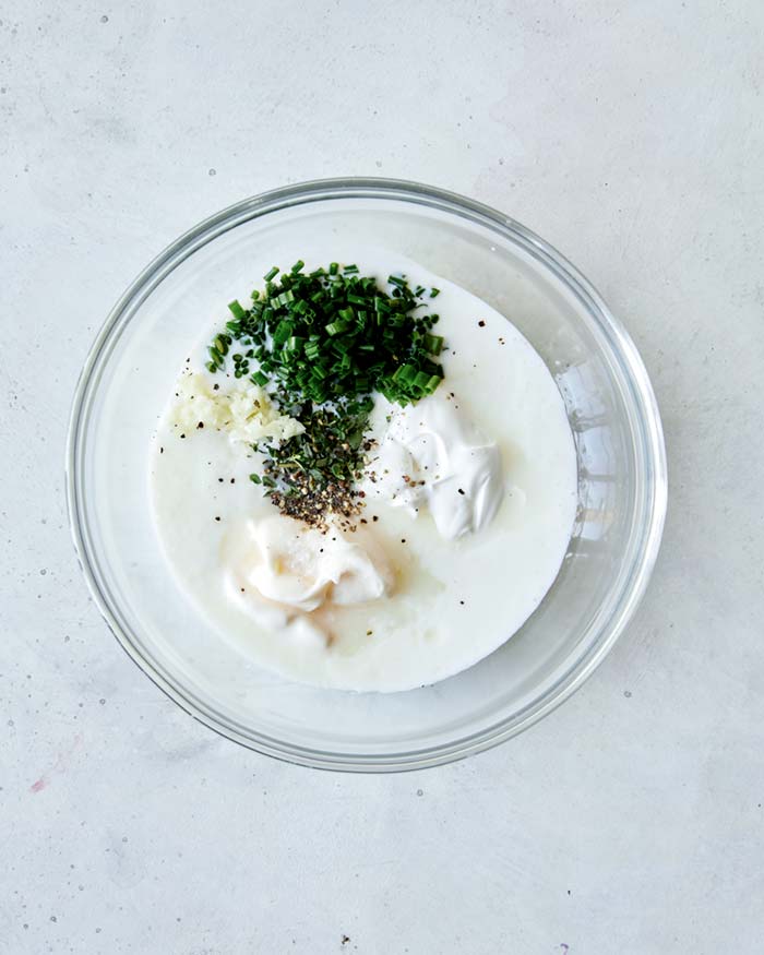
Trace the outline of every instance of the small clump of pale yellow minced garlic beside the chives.
<path fill-rule="evenodd" d="M 203 374 L 182 379 L 175 404 L 172 422 L 191 431 L 200 426 L 227 431 L 231 441 L 254 444 L 263 439 L 287 441 L 301 434 L 305 427 L 282 415 L 267 392 L 255 384 L 229 392 L 215 392 Z"/>

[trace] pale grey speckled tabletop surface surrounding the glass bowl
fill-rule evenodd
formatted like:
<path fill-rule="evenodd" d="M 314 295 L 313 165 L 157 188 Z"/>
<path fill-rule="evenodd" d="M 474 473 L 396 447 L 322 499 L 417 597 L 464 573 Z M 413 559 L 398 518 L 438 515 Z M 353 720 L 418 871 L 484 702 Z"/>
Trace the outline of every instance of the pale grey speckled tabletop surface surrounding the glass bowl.
<path fill-rule="evenodd" d="M 760 0 L 0 20 L 0 951 L 761 952 Z M 88 600 L 63 503 L 70 395 L 127 284 L 222 206 L 344 174 L 454 189 L 568 254 L 642 349 L 670 461 L 654 582 L 595 677 L 394 777 L 183 715 Z"/>

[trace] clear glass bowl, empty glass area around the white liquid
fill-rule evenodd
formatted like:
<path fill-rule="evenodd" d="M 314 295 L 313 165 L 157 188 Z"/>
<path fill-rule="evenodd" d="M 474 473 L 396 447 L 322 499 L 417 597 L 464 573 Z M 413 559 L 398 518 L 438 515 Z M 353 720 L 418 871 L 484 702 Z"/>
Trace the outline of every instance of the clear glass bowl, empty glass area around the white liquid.
<path fill-rule="evenodd" d="M 156 538 L 148 445 L 186 349 L 203 331 L 190 315 L 218 312 L 230 290 L 250 280 L 248 263 L 264 251 L 273 261 L 280 261 L 278 250 L 299 251 L 308 230 L 327 249 L 384 246 L 488 301 L 545 359 L 568 408 L 578 512 L 560 574 L 512 640 L 433 687 L 358 694 L 259 669 L 198 616 Z M 95 600 L 158 687 L 196 719 L 261 753 L 361 772 L 421 768 L 479 752 L 581 687 L 645 590 L 667 496 L 647 373 L 592 285 L 502 213 L 386 179 L 308 182 L 248 199 L 158 255 L 117 302 L 85 361 L 67 488 Z"/>

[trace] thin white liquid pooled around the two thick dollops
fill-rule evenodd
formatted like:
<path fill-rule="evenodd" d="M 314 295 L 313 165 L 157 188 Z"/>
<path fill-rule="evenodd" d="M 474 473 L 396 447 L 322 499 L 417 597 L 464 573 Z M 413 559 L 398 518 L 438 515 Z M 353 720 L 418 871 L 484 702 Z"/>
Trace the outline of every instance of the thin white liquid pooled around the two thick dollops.
<path fill-rule="evenodd" d="M 307 258 L 307 256 L 303 256 Z M 395 691 L 450 677 L 490 654 L 533 613 L 564 557 L 576 508 L 576 458 L 562 398 L 540 357 L 508 320 L 466 290 L 393 253 L 359 251 L 362 274 L 405 272 L 411 286 L 437 286 L 428 301 L 445 337 L 445 380 L 435 397 L 496 442 L 503 498 L 475 533 L 441 536 L 418 513 L 370 496 L 365 535 L 393 572 L 385 596 L 321 609 L 331 641 L 268 626 L 247 595 L 231 594 L 230 553 L 248 522 L 274 514 L 248 476 L 261 458 L 214 429 L 180 438 L 171 396 L 151 461 L 157 530 L 175 576 L 193 604 L 259 665 L 287 678 L 351 690 Z M 286 263 L 285 263 L 286 264 Z M 325 264 L 321 259 L 308 267 Z M 243 295 L 242 295 L 243 300 Z M 223 325 L 207 326 L 190 365 Z M 206 326 L 206 327 L 205 327 Z M 428 399 L 429 401 L 429 399 Z M 377 415 L 375 427 L 383 427 Z M 377 517 L 377 521 L 373 521 Z M 219 518 L 219 520 L 218 520 Z M 443 522 L 440 522 L 443 524 Z"/>

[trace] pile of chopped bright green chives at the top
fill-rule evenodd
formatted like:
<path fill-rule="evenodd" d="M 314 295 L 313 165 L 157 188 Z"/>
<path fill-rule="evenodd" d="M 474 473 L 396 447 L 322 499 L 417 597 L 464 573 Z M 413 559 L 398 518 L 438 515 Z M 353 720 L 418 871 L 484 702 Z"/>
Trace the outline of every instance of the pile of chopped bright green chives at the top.
<path fill-rule="evenodd" d="M 278 274 L 274 266 L 265 276 L 265 295 L 227 323 L 225 336 L 258 346 L 252 380 L 271 381 L 291 402 L 314 404 L 378 390 L 406 405 L 434 391 L 443 377 L 434 361 L 443 339 L 430 334 L 438 317 L 419 311 L 425 289 L 417 295 L 404 276 L 391 275 L 389 294 L 371 276 L 361 277 L 357 265 L 345 265 L 339 274 L 335 264 L 306 275 L 300 260 L 277 283 L 271 282 Z M 212 360 L 224 367 L 224 335 L 213 348 Z M 396 371 L 403 365 L 422 374 L 402 379 Z"/>

